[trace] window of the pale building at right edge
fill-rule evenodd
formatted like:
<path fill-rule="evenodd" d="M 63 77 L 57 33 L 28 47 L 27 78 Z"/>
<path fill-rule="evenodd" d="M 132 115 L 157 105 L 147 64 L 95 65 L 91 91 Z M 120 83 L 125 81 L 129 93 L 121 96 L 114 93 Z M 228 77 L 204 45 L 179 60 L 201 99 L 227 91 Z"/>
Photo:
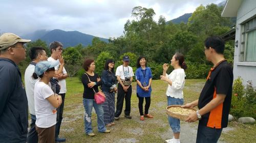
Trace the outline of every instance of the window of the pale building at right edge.
<path fill-rule="evenodd" d="M 241 25 L 240 62 L 256 62 L 256 18 Z"/>

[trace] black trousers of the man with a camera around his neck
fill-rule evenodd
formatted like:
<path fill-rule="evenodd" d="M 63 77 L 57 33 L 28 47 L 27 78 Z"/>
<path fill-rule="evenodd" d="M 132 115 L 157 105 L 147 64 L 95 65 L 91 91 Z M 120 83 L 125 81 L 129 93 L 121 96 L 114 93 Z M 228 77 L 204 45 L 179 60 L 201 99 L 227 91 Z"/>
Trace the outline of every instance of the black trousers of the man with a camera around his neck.
<path fill-rule="evenodd" d="M 127 92 L 124 92 L 123 87 L 118 83 L 117 87 L 117 102 L 116 102 L 116 112 L 115 117 L 119 117 L 123 109 L 123 100 L 125 99 L 125 110 L 124 114 L 130 116 L 131 112 L 131 97 L 132 97 L 132 85 L 130 85 Z"/>

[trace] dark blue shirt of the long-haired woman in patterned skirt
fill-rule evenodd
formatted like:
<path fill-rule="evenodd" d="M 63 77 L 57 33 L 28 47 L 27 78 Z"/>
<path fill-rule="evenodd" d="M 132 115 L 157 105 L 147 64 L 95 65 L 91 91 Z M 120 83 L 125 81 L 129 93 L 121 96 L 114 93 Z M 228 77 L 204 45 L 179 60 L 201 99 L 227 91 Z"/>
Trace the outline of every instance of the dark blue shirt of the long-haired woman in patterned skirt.
<path fill-rule="evenodd" d="M 103 70 L 101 74 L 102 91 L 109 92 L 112 85 L 117 84 L 117 79 L 115 72 L 110 72 L 109 70 Z"/>

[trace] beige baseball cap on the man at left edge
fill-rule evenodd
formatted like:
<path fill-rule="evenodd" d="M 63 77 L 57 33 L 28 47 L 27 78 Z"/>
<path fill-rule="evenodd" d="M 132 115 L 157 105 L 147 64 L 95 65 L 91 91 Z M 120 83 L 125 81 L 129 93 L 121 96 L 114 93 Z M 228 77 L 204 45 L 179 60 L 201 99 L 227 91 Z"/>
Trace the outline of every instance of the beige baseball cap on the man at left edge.
<path fill-rule="evenodd" d="M 9 48 L 10 46 L 18 42 L 27 43 L 30 41 L 31 40 L 22 39 L 13 33 L 4 33 L 3 35 L 0 36 L 0 50 Z"/>

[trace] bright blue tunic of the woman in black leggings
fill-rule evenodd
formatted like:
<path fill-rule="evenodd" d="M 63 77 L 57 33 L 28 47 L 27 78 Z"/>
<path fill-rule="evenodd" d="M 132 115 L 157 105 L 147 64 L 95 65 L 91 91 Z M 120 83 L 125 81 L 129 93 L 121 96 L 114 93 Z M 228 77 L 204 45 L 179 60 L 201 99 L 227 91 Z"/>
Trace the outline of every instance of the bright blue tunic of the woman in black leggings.
<path fill-rule="evenodd" d="M 145 77 L 144 74 L 145 73 Z M 141 85 L 143 85 L 143 82 L 146 82 L 146 85 L 150 83 L 150 79 L 152 78 L 152 72 L 150 67 L 146 67 L 145 70 L 143 70 L 141 67 L 139 67 L 136 70 L 136 80 L 139 80 Z M 150 91 L 145 92 L 143 91 L 140 86 L 137 84 L 137 94 L 139 97 L 150 97 L 151 96 L 151 86 L 150 86 Z"/>

